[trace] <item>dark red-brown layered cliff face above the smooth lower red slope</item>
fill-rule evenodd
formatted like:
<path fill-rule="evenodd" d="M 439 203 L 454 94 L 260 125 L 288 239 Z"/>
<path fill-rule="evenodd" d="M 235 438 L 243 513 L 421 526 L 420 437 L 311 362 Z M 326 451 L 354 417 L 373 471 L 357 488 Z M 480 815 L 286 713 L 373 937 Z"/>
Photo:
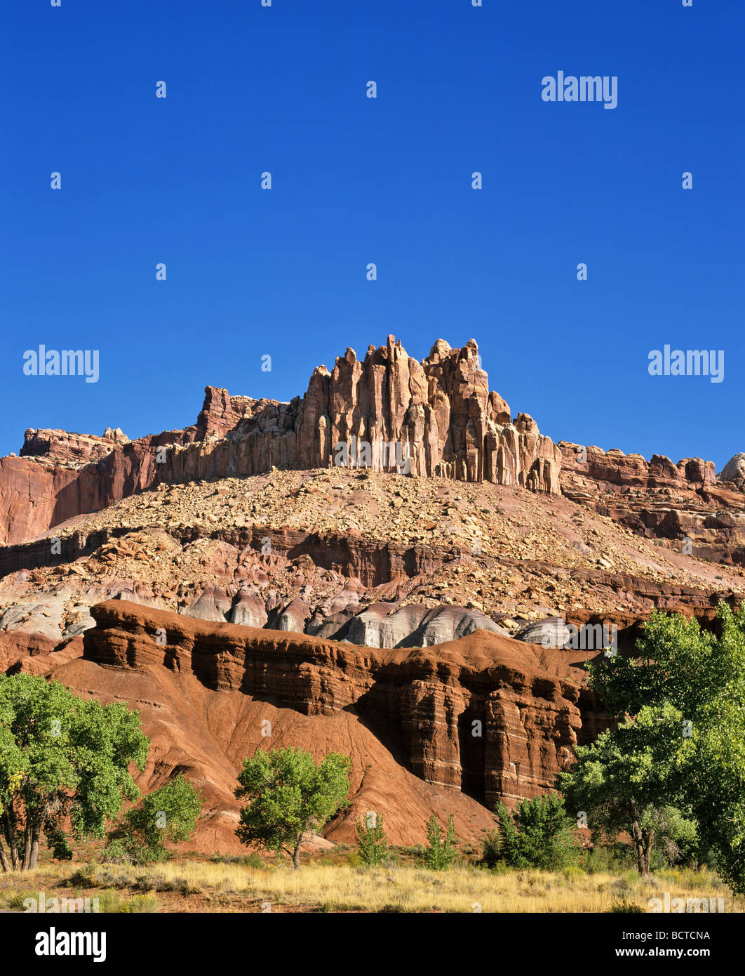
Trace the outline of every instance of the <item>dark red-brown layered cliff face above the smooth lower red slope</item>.
<path fill-rule="evenodd" d="M 476 630 L 436 651 L 375 650 L 305 634 L 213 624 L 123 600 L 92 609 L 85 661 L 106 669 L 195 677 L 315 720 L 358 716 L 398 743 L 412 773 L 490 808 L 551 788 L 570 760 L 583 711 L 605 718 L 581 688 L 582 655 Z M 158 643 L 158 632 L 166 643 Z M 576 660 L 575 660 L 576 657 Z M 256 745 L 260 730 L 255 730 Z"/>

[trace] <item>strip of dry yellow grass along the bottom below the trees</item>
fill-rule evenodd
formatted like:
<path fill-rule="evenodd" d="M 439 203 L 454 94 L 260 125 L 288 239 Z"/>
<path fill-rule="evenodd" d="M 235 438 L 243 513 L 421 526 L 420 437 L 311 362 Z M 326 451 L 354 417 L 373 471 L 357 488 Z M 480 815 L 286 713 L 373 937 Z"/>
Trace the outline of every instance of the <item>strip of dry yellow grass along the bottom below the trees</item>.
<path fill-rule="evenodd" d="M 586 874 L 477 867 L 446 872 L 412 864 L 364 868 L 310 863 L 255 867 L 178 858 L 149 868 L 98 864 L 43 865 L 0 874 L 0 908 L 23 911 L 23 899 L 98 898 L 100 912 L 648 912 L 650 898 L 724 898 L 742 913 L 745 899 L 708 871 L 669 869 L 645 881 L 635 872 Z"/>

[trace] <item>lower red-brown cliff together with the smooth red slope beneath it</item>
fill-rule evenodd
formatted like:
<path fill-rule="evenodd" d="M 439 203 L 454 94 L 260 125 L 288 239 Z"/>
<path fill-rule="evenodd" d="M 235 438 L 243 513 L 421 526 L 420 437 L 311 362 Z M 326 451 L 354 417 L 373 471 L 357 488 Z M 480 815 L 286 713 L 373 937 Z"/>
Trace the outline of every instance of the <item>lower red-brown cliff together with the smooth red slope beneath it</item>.
<path fill-rule="evenodd" d="M 199 850 L 239 849 L 232 791 L 257 748 L 351 755 L 352 803 L 332 839 L 351 840 L 371 809 L 394 843 L 421 842 L 433 812 L 475 839 L 498 798 L 550 788 L 571 747 L 606 721 L 580 685 L 586 655 L 482 630 L 436 650 L 382 651 L 124 600 L 92 612 L 82 656 L 76 637 L 58 652 L 17 647 L 13 667 L 140 710 L 153 745 L 139 785 L 156 789 L 178 770 L 202 789 Z"/>

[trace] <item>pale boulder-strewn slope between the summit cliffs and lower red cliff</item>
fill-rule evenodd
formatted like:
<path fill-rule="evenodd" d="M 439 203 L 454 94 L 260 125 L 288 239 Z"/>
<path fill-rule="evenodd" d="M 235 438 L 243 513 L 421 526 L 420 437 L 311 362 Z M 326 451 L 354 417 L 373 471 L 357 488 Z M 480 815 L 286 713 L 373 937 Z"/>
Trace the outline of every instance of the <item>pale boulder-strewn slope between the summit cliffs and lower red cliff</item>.
<path fill-rule="evenodd" d="M 488 482 L 320 469 L 159 485 L 0 549 L 0 630 L 55 643 L 112 597 L 380 646 L 562 617 L 633 640 L 655 607 L 710 619 L 745 571 L 566 498 Z"/>

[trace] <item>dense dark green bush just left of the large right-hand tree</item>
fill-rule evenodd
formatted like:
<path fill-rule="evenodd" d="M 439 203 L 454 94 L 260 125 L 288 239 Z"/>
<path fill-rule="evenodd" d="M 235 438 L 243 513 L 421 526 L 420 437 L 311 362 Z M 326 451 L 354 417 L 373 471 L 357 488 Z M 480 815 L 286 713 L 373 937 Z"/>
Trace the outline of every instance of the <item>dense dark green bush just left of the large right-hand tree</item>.
<path fill-rule="evenodd" d="M 498 837 L 490 834 L 484 860 L 502 861 L 512 868 L 556 871 L 576 860 L 576 841 L 564 800 L 557 793 L 524 799 L 514 812 L 499 802 L 494 810 Z"/>

